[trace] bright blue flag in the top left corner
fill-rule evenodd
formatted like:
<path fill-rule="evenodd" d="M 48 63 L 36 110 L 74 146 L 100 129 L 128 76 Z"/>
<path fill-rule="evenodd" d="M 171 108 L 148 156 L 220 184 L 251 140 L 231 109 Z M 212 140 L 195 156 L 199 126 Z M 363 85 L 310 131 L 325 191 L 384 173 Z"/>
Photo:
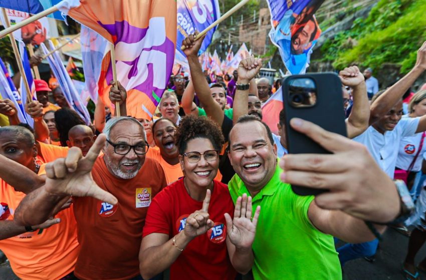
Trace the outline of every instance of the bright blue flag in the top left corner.
<path fill-rule="evenodd" d="M 60 1 L 61 0 L 0 0 L 0 7 L 36 14 L 56 5 Z M 55 19 L 65 20 L 65 17 L 60 11 L 55 11 L 48 16 Z"/>

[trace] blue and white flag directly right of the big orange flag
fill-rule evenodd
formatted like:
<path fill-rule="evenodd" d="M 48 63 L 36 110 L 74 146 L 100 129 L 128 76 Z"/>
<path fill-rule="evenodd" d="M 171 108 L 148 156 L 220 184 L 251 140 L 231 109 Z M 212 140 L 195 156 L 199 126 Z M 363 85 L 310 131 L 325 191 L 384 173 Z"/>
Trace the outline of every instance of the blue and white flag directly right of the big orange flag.
<path fill-rule="evenodd" d="M 195 30 L 202 31 L 221 16 L 218 0 L 177 0 L 176 50 L 186 57 L 180 49 L 182 41 Z M 215 26 L 209 30 L 202 42 L 198 55 L 203 53 L 211 42 Z"/>

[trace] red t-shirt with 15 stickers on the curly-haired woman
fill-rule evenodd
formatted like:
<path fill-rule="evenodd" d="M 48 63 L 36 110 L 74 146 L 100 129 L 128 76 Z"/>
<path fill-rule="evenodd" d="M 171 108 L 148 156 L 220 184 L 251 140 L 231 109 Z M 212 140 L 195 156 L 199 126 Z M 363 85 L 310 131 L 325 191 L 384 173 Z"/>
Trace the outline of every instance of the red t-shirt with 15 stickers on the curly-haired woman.
<path fill-rule="evenodd" d="M 214 180 L 208 213 L 214 230 L 201 234 L 186 246 L 170 266 L 170 279 L 235 279 L 226 243 L 225 213 L 234 216 L 234 202 L 224 183 Z M 143 236 L 165 233 L 171 238 L 185 227 L 186 217 L 199 210 L 202 201 L 192 199 L 183 178 L 165 187 L 152 200 L 146 215 Z M 212 228 L 213 229 L 213 228 Z"/>

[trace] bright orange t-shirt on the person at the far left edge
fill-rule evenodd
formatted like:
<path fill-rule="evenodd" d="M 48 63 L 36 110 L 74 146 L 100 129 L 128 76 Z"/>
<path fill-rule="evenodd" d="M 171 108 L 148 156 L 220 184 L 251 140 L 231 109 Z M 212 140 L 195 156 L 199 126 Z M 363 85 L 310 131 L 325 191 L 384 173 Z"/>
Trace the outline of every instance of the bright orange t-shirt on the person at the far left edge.
<path fill-rule="evenodd" d="M 25 193 L 0 179 L 3 206 L 0 220 L 13 220 L 15 209 L 24 197 Z M 55 217 L 61 218 L 61 222 L 49 228 L 0 240 L 0 249 L 21 279 L 60 279 L 74 270 L 79 245 L 72 205 Z"/>

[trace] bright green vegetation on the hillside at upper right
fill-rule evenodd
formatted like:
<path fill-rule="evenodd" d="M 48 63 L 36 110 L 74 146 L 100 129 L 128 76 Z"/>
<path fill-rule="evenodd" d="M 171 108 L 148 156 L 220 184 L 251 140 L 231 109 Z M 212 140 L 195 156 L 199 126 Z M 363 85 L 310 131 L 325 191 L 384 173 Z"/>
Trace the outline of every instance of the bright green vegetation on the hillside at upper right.
<path fill-rule="evenodd" d="M 333 61 L 337 69 L 355 63 L 374 69 L 391 62 L 408 72 L 426 40 L 424 7 L 426 0 L 380 0 L 367 18 L 356 19 L 351 29 L 321 46 L 322 60 Z"/>

